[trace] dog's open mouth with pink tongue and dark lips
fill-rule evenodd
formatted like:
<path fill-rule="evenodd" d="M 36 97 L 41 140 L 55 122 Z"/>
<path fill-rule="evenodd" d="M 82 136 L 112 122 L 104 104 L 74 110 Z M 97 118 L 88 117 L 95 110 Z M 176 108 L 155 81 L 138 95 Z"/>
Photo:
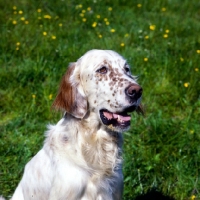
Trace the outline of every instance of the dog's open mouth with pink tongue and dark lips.
<path fill-rule="evenodd" d="M 103 124 L 106 126 L 112 125 L 113 127 L 126 129 L 130 126 L 130 122 L 131 122 L 131 116 L 128 115 L 127 112 L 131 112 L 131 111 L 124 111 L 121 113 L 112 113 L 106 109 L 102 109 L 100 110 L 100 118 Z"/>

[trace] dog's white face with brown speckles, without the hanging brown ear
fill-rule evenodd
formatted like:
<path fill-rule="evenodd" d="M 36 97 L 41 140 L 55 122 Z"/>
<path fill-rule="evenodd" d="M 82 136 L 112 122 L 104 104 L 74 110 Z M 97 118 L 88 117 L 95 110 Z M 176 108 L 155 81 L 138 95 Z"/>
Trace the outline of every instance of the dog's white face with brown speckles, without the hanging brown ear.
<path fill-rule="evenodd" d="M 80 60 L 80 79 L 89 109 L 98 113 L 102 124 L 124 130 L 140 104 L 142 88 L 131 75 L 126 60 L 114 51 L 92 50 Z"/>

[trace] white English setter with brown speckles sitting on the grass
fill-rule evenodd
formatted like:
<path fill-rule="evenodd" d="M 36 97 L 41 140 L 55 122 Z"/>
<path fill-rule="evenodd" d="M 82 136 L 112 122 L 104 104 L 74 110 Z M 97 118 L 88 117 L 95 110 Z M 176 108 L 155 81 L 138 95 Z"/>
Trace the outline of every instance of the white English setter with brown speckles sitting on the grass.
<path fill-rule="evenodd" d="M 12 200 L 122 199 L 122 132 L 141 96 L 126 60 L 114 51 L 91 50 L 71 63 L 53 103 L 65 114 L 48 127 Z"/>

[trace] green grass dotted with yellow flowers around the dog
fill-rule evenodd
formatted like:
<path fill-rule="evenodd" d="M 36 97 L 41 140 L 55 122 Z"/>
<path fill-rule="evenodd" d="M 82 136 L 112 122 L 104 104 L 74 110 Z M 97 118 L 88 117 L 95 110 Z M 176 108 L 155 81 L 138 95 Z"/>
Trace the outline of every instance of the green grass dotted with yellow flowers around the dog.
<path fill-rule="evenodd" d="M 10 197 L 42 147 L 68 63 L 113 49 L 144 89 L 124 134 L 124 199 L 157 188 L 200 199 L 200 3 L 0 1 L 0 193 Z"/>

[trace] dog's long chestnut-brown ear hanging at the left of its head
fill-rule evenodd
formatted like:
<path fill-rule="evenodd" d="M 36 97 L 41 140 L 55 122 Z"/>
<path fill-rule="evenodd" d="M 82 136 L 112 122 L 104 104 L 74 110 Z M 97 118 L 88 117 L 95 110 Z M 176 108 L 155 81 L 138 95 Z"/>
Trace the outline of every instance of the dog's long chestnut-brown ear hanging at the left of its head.
<path fill-rule="evenodd" d="M 75 67 L 76 63 L 71 63 L 68 67 L 52 107 L 82 119 L 87 113 L 87 99 L 80 84 L 80 72 Z"/>

